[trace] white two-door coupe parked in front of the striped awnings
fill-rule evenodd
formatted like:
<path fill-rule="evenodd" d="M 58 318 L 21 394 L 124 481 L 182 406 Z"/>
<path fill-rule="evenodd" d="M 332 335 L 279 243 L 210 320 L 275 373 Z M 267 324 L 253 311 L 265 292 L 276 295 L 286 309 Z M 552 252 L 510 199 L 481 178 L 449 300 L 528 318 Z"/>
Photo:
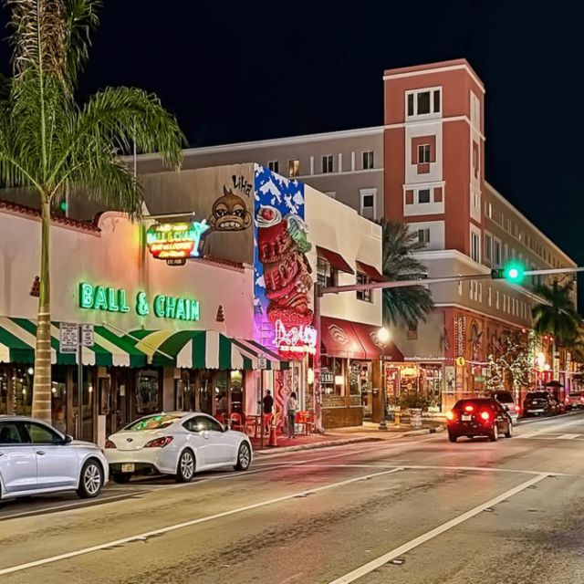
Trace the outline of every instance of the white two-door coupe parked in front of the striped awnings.
<path fill-rule="evenodd" d="M 252 445 L 245 433 L 224 427 L 198 412 L 169 412 L 131 422 L 106 442 L 111 478 L 127 483 L 132 474 L 172 474 L 178 482 L 195 471 L 233 466 L 245 471 Z"/>

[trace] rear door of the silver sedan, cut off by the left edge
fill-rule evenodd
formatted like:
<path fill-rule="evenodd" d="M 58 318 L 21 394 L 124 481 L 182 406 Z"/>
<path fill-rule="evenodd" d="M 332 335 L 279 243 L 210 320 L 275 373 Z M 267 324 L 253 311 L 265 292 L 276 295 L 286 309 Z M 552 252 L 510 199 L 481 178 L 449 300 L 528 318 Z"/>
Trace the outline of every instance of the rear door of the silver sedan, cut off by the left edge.
<path fill-rule="evenodd" d="M 36 489 L 36 454 L 16 421 L 0 422 L 0 478 L 6 493 Z"/>

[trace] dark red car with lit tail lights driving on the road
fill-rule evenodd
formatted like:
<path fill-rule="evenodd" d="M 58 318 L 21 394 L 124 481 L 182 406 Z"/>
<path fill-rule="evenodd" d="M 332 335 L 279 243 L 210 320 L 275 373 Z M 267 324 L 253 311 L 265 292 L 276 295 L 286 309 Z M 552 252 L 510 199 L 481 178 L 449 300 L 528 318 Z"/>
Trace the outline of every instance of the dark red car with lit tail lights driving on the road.
<path fill-rule="evenodd" d="M 505 408 L 494 398 L 459 400 L 446 413 L 448 439 L 456 442 L 460 436 L 487 436 L 496 442 L 501 434 L 513 436 L 513 422 Z"/>

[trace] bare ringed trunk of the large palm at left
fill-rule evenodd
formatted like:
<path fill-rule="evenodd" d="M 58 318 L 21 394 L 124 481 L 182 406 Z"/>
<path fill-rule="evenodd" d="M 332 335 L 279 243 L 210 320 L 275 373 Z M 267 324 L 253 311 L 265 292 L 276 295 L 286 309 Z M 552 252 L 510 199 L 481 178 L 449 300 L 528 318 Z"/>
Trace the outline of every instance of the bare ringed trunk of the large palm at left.
<path fill-rule="evenodd" d="M 51 422 L 51 283 L 49 271 L 51 212 L 48 200 L 42 202 L 40 246 L 40 294 L 36 325 L 34 418 Z"/>

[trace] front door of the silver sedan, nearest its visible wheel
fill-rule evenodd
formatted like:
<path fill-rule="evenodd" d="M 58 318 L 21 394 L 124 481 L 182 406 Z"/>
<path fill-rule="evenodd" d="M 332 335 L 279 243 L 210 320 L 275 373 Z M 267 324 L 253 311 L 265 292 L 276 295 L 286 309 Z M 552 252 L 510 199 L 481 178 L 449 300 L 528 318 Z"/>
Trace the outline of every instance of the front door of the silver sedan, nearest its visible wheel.
<path fill-rule="evenodd" d="M 39 489 L 74 487 L 78 482 L 79 460 L 75 446 L 42 422 L 22 422 L 36 454 L 36 485 Z"/>

